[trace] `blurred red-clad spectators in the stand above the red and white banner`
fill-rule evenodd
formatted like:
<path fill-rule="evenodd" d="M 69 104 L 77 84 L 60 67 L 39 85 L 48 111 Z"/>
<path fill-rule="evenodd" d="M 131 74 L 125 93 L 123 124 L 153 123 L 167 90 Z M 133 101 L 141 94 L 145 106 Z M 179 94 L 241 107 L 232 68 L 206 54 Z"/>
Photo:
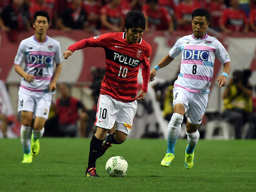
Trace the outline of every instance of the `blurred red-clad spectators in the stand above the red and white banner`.
<path fill-rule="evenodd" d="M 17 31 L 32 30 L 34 13 L 45 10 L 50 28 L 71 32 L 109 29 L 124 30 L 125 14 L 141 10 L 147 18 L 146 31 L 190 30 L 191 13 L 205 8 L 211 14 L 211 28 L 230 34 L 256 32 L 255 0 L 1 0 L 0 28 L 10 40 Z"/>

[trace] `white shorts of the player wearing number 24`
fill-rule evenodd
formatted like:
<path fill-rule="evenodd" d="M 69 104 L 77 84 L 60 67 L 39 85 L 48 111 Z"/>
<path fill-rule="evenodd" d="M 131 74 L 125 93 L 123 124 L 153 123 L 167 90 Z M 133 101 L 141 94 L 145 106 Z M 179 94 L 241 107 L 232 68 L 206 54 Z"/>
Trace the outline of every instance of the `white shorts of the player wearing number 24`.
<path fill-rule="evenodd" d="M 18 112 L 31 111 L 34 116 L 48 118 L 52 93 L 34 92 L 20 87 Z"/>

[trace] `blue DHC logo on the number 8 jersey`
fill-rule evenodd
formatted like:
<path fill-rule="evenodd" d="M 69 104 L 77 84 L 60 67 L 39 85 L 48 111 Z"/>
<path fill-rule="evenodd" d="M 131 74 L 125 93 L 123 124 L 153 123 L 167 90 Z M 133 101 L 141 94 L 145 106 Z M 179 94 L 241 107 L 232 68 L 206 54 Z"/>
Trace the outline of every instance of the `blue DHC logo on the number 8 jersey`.
<path fill-rule="evenodd" d="M 183 54 L 184 60 L 191 59 L 191 60 L 207 61 L 208 57 L 209 57 L 209 51 L 184 49 L 184 54 Z"/>

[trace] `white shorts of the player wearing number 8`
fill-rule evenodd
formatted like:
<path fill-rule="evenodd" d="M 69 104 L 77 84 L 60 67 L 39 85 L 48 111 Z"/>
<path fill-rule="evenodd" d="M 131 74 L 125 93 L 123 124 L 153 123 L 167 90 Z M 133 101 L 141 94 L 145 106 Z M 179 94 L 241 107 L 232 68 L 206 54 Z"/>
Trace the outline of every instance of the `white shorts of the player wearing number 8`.
<path fill-rule="evenodd" d="M 173 103 L 181 103 L 187 112 L 186 117 L 191 124 L 201 124 L 208 102 L 208 94 L 188 92 L 181 87 L 173 89 Z"/>

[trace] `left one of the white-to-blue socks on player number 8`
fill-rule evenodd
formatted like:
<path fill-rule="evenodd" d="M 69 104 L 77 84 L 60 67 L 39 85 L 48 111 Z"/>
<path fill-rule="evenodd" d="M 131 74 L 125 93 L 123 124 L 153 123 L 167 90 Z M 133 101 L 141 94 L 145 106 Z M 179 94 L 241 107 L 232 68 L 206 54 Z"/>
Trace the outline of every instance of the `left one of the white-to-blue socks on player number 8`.
<path fill-rule="evenodd" d="M 167 153 L 173 153 L 174 155 L 174 147 L 180 135 L 182 121 L 182 115 L 179 113 L 173 113 L 167 128 Z"/>

